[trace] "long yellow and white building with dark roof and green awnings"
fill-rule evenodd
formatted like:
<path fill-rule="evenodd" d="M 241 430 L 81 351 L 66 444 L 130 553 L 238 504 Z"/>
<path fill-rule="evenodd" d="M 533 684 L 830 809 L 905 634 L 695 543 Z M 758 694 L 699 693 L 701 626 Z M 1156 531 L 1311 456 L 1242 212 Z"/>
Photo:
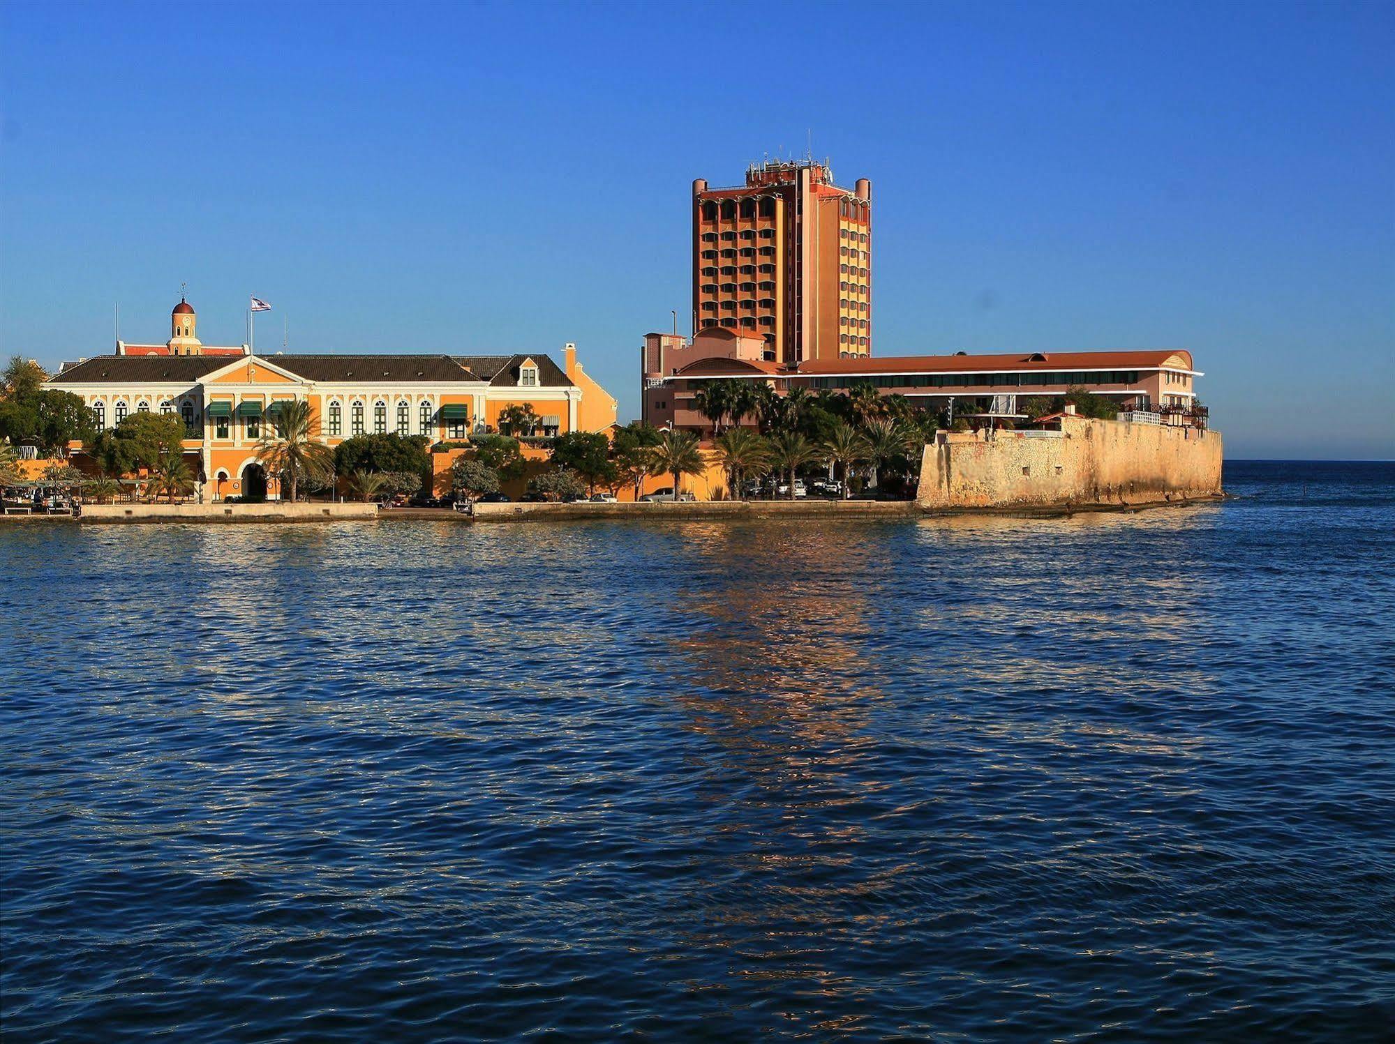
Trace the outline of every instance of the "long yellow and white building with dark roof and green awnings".
<path fill-rule="evenodd" d="M 64 364 L 46 386 L 81 396 L 99 428 L 140 411 L 181 417 L 186 457 L 212 499 L 265 491 L 257 443 L 287 400 L 310 403 L 331 446 L 386 432 L 465 439 L 498 428 L 511 406 L 531 407 L 538 424 L 527 433 L 536 435 L 615 422 L 615 400 L 582 369 L 572 344 L 561 367 L 545 353 L 258 355 L 247 346 L 202 346 L 184 301 L 172 329 L 163 346 L 117 343 L 114 354 Z"/>

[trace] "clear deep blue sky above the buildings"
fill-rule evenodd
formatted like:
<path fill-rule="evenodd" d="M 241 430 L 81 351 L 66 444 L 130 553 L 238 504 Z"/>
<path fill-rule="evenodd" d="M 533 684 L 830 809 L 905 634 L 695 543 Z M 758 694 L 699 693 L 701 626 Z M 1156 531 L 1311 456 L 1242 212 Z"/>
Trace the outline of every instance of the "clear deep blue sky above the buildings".
<path fill-rule="evenodd" d="M 1395 6 L 0 4 L 0 353 L 543 351 L 638 413 L 695 177 L 873 185 L 879 355 L 1186 347 L 1395 456 Z M 685 330 L 686 332 L 686 330 Z"/>

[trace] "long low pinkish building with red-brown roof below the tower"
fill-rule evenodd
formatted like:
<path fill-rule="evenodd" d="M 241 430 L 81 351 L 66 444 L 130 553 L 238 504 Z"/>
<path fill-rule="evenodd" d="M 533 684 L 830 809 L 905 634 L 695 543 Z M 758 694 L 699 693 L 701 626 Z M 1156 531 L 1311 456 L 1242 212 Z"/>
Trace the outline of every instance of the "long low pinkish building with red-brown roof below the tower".
<path fill-rule="evenodd" d="M 805 360 L 792 365 L 764 358 L 764 344 L 720 328 L 692 339 L 650 333 L 643 348 L 644 420 L 653 425 L 710 428 L 693 406 L 704 385 L 718 379 L 756 381 L 788 393 L 848 392 L 869 385 L 880 394 L 900 394 L 917 406 L 957 414 L 1020 415 L 1023 399 L 1059 396 L 1083 386 L 1117 399 L 1122 410 L 1159 413 L 1177 424 L 1204 424 L 1196 407 L 1191 353 L 1046 351 L 970 355 L 889 355 L 880 358 Z"/>

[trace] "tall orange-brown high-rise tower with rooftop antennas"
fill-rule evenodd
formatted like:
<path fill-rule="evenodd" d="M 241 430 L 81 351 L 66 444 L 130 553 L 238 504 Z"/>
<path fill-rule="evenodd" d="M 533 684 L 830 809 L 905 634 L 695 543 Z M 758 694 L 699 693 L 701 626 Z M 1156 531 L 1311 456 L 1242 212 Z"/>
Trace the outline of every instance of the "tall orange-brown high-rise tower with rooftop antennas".
<path fill-rule="evenodd" d="M 872 351 L 872 183 L 829 164 L 759 163 L 739 188 L 693 181 L 693 330 L 764 341 L 771 362 Z"/>

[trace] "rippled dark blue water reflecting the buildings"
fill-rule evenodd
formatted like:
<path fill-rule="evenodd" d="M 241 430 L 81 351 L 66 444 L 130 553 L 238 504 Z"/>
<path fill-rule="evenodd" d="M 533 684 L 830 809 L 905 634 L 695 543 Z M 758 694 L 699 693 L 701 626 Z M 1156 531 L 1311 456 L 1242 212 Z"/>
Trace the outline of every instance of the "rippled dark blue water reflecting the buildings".
<path fill-rule="evenodd" d="M 4 1038 L 1377 1040 L 1395 467 L 0 528 Z"/>

